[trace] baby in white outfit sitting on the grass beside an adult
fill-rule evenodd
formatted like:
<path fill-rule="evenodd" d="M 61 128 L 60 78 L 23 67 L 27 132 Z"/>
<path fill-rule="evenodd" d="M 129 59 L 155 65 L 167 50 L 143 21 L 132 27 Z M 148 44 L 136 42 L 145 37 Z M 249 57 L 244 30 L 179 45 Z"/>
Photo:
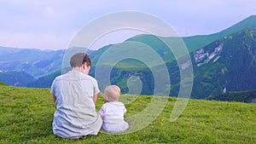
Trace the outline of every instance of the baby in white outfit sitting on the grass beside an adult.
<path fill-rule="evenodd" d="M 129 124 L 125 122 L 125 105 L 119 101 L 121 90 L 117 85 L 109 85 L 104 90 L 106 103 L 102 106 L 100 114 L 102 116 L 102 129 L 109 133 L 119 133 L 127 130 Z"/>

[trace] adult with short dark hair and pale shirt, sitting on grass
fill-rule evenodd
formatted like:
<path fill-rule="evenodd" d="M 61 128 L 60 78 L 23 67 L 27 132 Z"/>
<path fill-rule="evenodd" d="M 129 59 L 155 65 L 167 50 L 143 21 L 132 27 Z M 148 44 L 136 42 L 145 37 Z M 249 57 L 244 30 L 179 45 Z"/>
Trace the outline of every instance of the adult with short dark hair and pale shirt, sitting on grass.
<path fill-rule="evenodd" d="M 88 75 L 91 60 L 78 53 L 70 60 L 72 71 L 56 77 L 51 93 L 55 103 L 53 132 L 63 138 L 97 135 L 102 118 L 96 112 L 97 94 L 100 92 L 95 78 Z"/>

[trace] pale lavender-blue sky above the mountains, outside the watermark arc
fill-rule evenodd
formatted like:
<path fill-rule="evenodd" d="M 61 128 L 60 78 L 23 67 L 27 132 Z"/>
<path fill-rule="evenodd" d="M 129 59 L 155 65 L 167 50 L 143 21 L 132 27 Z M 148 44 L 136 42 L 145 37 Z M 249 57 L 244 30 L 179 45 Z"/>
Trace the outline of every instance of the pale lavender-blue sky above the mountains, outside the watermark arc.
<path fill-rule="evenodd" d="M 181 37 L 220 32 L 256 14 L 255 0 L 0 0 L 0 46 L 67 49 L 84 26 L 120 11 L 152 14 Z M 125 17 L 124 17 L 125 20 Z M 104 23 L 102 23 L 104 26 Z M 140 31 L 119 30 L 98 37 L 90 49 L 121 43 Z"/>

